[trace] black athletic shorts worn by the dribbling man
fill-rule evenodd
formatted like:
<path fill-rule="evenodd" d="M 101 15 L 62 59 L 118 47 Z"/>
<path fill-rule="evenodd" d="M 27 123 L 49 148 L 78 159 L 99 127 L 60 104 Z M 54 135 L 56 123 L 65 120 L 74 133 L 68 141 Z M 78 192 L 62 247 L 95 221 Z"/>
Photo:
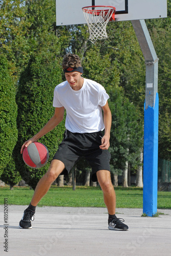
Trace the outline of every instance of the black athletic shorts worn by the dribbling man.
<path fill-rule="evenodd" d="M 96 172 L 98 170 L 109 170 L 110 172 L 110 153 L 99 147 L 102 144 L 102 137 L 102 132 L 81 134 L 65 130 L 64 139 L 53 158 L 53 160 L 60 160 L 65 165 L 61 175 L 69 174 L 71 168 L 81 157 L 85 157 L 92 168 L 92 181 L 97 181 Z"/>

